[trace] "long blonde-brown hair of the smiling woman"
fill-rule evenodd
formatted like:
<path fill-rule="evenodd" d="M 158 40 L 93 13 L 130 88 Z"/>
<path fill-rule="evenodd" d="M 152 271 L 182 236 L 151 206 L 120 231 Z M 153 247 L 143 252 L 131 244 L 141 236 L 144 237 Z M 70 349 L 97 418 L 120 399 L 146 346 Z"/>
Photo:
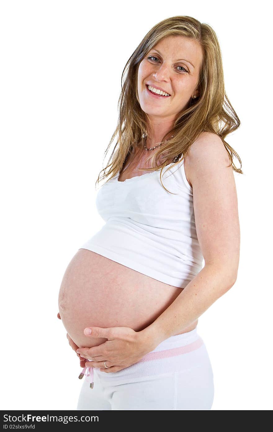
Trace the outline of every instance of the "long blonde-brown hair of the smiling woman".
<path fill-rule="evenodd" d="M 161 169 L 161 181 L 162 171 L 168 165 L 168 159 L 177 161 L 172 165 L 173 167 L 179 164 L 198 136 L 202 132 L 211 132 L 216 133 L 221 138 L 233 170 L 243 174 L 241 159 L 224 140 L 229 133 L 238 129 L 241 122 L 225 92 L 222 56 L 217 35 L 210 25 L 201 24 L 191 16 L 173 16 L 154 25 L 144 36 L 123 69 L 122 91 L 119 96 L 119 121 L 107 146 L 104 158 L 115 137 L 117 140 L 107 166 L 100 171 L 96 184 L 107 177 L 109 177 L 108 181 L 117 175 L 122 170 L 128 156 L 135 152 L 137 143 L 142 141 L 144 134 L 149 136 L 150 121 L 147 114 L 142 110 L 138 98 L 138 67 L 151 48 L 166 36 L 185 36 L 200 43 L 203 49 L 203 62 L 197 85 L 200 92 L 197 98 L 191 99 L 188 108 L 179 112 L 173 128 L 166 133 L 161 143 L 166 140 L 169 134 L 173 135 L 173 138 L 159 146 L 153 155 L 147 159 L 151 159 L 152 164 L 155 161 L 155 167 L 143 169 L 145 171 L 155 170 L 155 168 Z M 163 154 L 167 155 L 166 160 L 157 165 L 160 160 L 162 161 Z M 233 155 L 240 162 L 240 168 L 236 168 L 234 165 Z M 167 168 L 167 171 L 170 168 Z M 141 168 L 139 169 L 142 171 Z M 162 186 L 164 187 L 163 184 Z M 164 189 L 166 188 L 164 187 Z"/>

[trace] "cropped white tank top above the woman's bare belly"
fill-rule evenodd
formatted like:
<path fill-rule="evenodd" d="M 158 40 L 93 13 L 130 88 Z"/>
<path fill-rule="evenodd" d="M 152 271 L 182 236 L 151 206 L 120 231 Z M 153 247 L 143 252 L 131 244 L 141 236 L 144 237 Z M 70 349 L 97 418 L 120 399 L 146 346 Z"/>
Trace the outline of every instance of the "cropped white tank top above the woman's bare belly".
<path fill-rule="evenodd" d="M 174 165 L 171 163 L 170 165 Z M 79 249 L 89 249 L 172 286 L 185 288 L 203 267 L 192 187 L 184 160 L 160 170 L 103 184 L 96 198 L 106 222 Z"/>

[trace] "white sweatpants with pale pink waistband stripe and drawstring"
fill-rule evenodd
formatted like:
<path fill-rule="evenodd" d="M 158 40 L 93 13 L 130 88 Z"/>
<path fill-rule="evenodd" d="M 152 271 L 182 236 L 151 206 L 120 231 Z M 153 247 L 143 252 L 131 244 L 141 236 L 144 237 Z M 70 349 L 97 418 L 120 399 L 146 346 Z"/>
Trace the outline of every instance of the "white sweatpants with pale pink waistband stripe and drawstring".
<path fill-rule="evenodd" d="M 210 410 L 213 371 L 197 327 L 169 337 L 118 372 L 94 368 L 94 388 L 82 384 L 77 410 Z"/>

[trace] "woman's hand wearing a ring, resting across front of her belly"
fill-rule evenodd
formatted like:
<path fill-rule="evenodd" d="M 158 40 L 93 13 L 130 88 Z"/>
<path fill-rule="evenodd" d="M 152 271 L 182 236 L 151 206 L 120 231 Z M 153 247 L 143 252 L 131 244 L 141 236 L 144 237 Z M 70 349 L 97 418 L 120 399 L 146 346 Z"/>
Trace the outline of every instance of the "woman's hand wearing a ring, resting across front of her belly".
<path fill-rule="evenodd" d="M 88 333 L 90 330 L 91 333 Z M 84 333 L 85 336 L 108 339 L 100 345 L 78 348 L 76 351 L 85 359 L 93 360 L 85 362 L 85 366 L 100 368 L 102 372 L 118 372 L 128 368 L 154 349 L 141 331 L 136 332 L 130 327 L 88 327 Z M 105 360 L 107 368 L 104 365 Z"/>

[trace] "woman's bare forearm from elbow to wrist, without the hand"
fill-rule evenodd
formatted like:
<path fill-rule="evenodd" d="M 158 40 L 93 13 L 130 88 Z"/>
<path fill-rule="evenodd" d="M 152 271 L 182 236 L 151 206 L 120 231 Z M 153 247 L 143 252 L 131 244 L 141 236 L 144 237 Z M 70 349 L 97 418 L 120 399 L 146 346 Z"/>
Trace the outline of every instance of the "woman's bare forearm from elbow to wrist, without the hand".
<path fill-rule="evenodd" d="M 212 265 L 203 269 L 182 290 L 174 302 L 148 327 L 141 330 L 143 338 L 152 349 L 163 340 L 179 334 L 196 321 L 217 299 L 234 285 L 227 271 Z"/>

